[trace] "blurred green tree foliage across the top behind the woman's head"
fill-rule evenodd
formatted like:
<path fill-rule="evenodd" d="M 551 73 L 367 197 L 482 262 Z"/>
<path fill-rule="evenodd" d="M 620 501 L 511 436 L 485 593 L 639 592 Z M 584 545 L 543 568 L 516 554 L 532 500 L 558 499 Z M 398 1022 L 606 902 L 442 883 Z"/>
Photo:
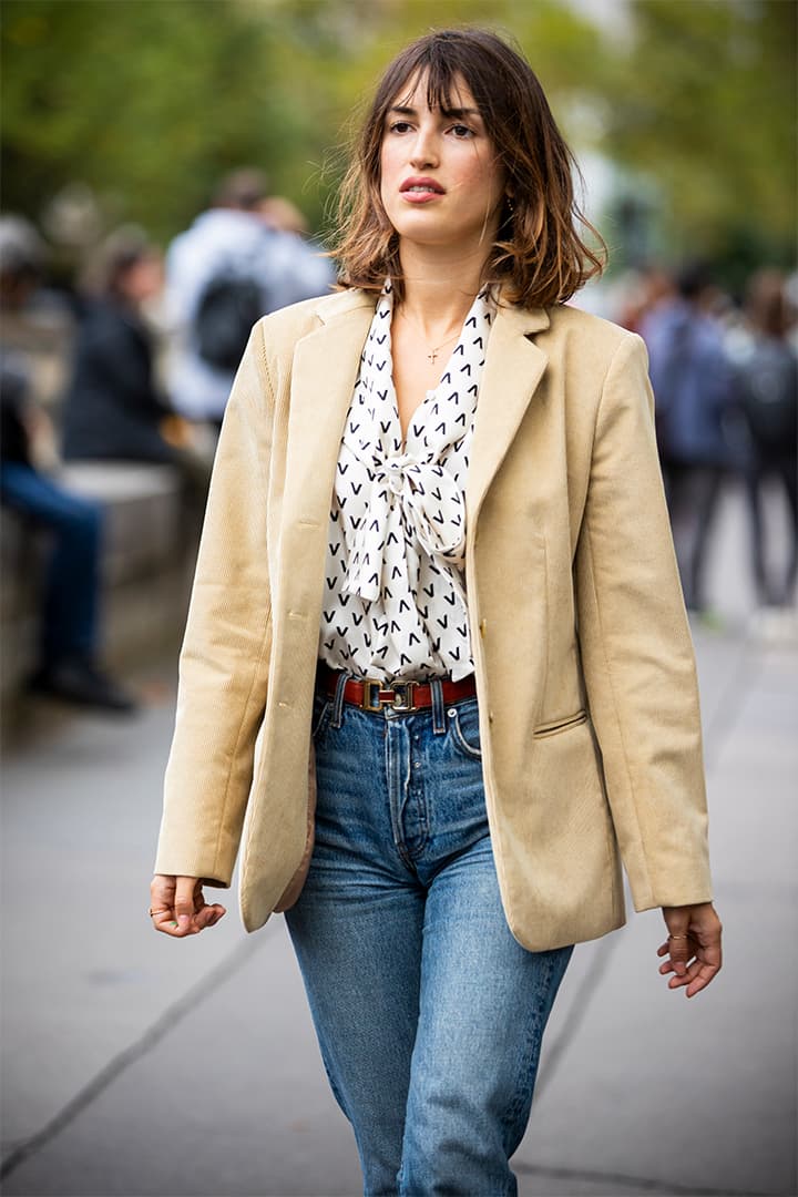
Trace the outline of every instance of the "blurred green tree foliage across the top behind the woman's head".
<path fill-rule="evenodd" d="M 438 26 L 519 42 L 577 150 L 653 181 L 669 244 L 788 255 L 793 0 L 440 0 Z M 66 183 L 165 241 L 232 166 L 267 169 L 318 227 L 353 108 L 431 24 L 427 0 L 4 0 L 4 207 Z M 586 16 L 585 16 L 586 13 Z M 614 239 L 617 239 L 614 237 Z"/>

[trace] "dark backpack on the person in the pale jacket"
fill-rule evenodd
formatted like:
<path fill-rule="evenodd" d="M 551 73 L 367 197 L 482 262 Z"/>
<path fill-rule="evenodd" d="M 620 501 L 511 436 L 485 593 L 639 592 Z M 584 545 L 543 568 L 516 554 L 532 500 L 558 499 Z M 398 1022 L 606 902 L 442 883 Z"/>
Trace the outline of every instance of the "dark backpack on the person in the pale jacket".
<path fill-rule="evenodd" d="M 249 334 L 266 310 L 254 279 L 226 271 L 206 285 L 194 316 L 196 352 L 208 365 L 230 373 L 238 369 Z"/>

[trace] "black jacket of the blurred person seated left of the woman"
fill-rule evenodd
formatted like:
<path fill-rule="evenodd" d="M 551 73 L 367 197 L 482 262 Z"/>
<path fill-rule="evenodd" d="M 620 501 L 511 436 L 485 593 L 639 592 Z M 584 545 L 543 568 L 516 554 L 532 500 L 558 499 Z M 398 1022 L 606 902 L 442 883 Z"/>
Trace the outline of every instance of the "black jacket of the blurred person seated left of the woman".
<path fill-rule="evenodd" d="M 144 324 L 116 303 L 93 303 L 78 333 L 63 400 L 65 458 L 170 462 L 173 451 L 158 431 L 169 414 L 156 389 Z"/>

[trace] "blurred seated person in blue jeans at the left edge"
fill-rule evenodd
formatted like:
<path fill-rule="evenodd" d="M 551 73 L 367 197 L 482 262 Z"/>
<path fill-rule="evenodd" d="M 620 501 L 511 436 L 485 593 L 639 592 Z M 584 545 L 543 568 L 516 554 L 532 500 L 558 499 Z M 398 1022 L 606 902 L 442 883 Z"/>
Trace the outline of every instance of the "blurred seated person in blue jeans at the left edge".
<path fill-rule="evenodd" d="M 17 217 L 0 219 L 0 314 L 19 314 L 39 286 L 45 248 Z M 103 509 L 50 475 L 49 418 L 31 394 L 26 357 L 2 345 L 0 328 L 0 499 L 53 539 L 41 610 L 39 661 L 31 691 L 69 703 L 130 712 L 135 701 L 98 664 Z"/>

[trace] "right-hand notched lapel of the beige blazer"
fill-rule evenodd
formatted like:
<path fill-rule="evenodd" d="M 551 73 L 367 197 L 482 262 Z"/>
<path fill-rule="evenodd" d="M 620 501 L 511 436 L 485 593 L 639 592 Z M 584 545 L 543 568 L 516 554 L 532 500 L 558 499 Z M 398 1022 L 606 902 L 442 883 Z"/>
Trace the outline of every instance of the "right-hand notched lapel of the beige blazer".
<path fill-rule="evenodd" d="M 475 528 L 482 499 L 548 363 L 546 353 L 528 336 L 548 326 L 549 317 L 542 308 L 525 311 L 499 306 L 497 311 L 488 338 L 465 481 L 467 535 Z"/>

